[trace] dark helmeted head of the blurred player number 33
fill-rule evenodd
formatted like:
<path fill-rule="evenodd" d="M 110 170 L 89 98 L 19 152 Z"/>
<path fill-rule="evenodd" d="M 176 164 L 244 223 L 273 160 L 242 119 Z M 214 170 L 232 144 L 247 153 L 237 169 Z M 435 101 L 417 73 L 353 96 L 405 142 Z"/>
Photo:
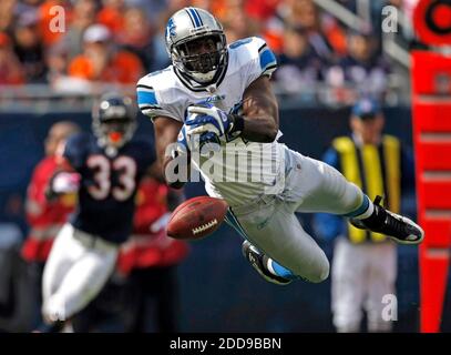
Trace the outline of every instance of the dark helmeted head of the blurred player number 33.
<path fill-rule="evenodd" d="M 133 138 L 136 129 L 132 99 L 117 93 L 104 94 L 94 105 L 92 119 L 93 133 L 109 155 L 115 155 Z"/>

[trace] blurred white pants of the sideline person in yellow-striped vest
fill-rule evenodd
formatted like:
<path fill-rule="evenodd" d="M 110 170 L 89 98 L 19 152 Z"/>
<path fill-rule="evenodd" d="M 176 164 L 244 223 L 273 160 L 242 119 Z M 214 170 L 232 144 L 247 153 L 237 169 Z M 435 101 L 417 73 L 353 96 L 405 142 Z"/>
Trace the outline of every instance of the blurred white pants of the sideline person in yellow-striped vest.
<path fill-rule="evenodd" d="M 331 271 L 332 313 L 337 332 L 360 331 L 362 311 L 369 332 L 389 332 L 383 320 L 386 295 L 394 295 L 397 246 L 393 242 L 352 244 L 339 237 L 334 248 Z"/>

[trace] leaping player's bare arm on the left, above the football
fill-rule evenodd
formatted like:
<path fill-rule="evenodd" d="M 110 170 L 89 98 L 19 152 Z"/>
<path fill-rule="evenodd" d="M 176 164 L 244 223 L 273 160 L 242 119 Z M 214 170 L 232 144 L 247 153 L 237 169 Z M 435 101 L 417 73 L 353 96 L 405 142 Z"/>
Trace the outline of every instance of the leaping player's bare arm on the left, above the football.
<path fill-rule="evenodd" d="M 156 158 L 158 165 L 162 168 L 162 174 L 165 178 L 166 183 L 166 165 L 173 159 L 173 156 L 166 154 L 166 148 L 170 144 L 177 142 L 177 135 L 180 130 L 182 129 L 182 122 L 165 116 L 156 116 L 154 119 Z M 185 184 L 185 182 L 176 181 L 167 184 L 171 187 L 181 189 Z"/>

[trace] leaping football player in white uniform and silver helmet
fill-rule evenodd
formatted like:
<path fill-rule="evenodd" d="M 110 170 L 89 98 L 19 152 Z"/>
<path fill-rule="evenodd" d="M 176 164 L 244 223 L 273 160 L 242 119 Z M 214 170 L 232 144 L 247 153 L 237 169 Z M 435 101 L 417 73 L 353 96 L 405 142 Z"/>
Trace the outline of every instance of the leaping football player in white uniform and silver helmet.
<path fill-rule="evenodd" d="M 325 253 L 295 212 L 345 215 L 399 243 L 422 241 L 423 231 L 412 221 L 372 203 L 334 168 L 277 142 L 278 106 L 269 82 L 277 63 L 265 41 L 247 38 L 227 45 L 209 12 L 184 8 L 167 22 L 166 49 L 172 65 L 137 83 L 137 102 L 154 122 L 166 181 L 182 186 L 181 162 L 193 163 L 208 194 L 228 203 L 227 222 L 245 239 L 244 255 L 267 281 L 317 283 L 329 274 Z M 248 156 L 258 159 L 248 164 Z M 243 174 L 246 169 L 250 178 Z"/>

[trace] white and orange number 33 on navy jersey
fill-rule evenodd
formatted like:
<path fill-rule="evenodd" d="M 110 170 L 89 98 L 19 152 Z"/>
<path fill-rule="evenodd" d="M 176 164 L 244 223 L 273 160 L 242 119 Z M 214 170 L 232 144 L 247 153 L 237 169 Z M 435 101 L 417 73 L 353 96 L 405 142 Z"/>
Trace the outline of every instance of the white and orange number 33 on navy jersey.
<path fill-rule="evenodd" d="M 133 194 L 136 183 L 136 162 L 130 156 L 117 156 L 111 163 L 100 154 L 91 155 L 86 162 L 88 168 L 95 171 L 95 185 L 88 187 L 88 192 L 95 200 L 105 200 L 110 193 L 117 201 L 125 201 Z M 112 186 L 111 172 L 119 174 L 117 186 Z"/>

